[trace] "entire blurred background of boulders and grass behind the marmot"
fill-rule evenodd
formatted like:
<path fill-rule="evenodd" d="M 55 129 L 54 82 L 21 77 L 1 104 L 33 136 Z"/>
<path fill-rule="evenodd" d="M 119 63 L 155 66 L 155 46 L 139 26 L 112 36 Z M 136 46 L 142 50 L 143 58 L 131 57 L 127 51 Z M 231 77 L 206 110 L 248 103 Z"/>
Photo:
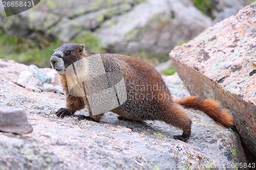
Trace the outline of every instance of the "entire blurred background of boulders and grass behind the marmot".
<path fill-rule="evenodd" d="M 169 59 L 167 54 L 176 45 L 188 42 L 251 2 L 41 1 L 10 17 L 1 6 L 0 58 L 48 67 L 53 48 L 77 42 L 97 53 L 132 55 L 156 66 Z"/>

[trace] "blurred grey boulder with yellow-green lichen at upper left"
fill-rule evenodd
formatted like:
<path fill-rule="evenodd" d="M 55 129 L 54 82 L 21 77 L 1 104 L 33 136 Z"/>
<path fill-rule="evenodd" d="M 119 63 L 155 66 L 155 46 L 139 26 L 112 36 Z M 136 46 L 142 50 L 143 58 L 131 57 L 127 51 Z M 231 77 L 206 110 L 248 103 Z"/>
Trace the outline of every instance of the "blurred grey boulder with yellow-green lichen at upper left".
<path fill-rule="evenodd" d="M 125 13 L 138 1 L 40 1 L 30 10 L 11 17 L 6 17 L 0 6 L 0 22 L 4 23 L 0 28 L 9 35 L 50 41 L 56 37 L 68 42 L 84 31 L 99 28 L 110 17 Z"/>

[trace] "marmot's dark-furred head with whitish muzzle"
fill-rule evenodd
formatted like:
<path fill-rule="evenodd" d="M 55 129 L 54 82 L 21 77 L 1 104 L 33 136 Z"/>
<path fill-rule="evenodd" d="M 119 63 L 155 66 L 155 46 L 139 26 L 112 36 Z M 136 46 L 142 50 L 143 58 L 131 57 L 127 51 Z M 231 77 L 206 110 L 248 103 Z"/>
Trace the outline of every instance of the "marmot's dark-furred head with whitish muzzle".
<path fill-rule="evenodd" d="M 65 75 L 65 70 L 70 64 L 86 56 L 90 56 L 90 53 L 84 48 L 84 45 L 63 44 L 53 51 L 51 65 L 59 74 Z"/>

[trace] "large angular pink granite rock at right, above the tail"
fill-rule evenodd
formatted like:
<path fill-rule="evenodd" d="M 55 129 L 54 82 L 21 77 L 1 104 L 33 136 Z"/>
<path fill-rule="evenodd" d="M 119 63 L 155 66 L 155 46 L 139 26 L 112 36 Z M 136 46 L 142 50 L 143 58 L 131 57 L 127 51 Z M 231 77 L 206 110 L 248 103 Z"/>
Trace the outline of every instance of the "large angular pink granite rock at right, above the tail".
<path fill-rule="evenodd" d="M 169 56 L 192 94 L 221 102 L 256 155 L 256 4 L 245 7 Z"/>

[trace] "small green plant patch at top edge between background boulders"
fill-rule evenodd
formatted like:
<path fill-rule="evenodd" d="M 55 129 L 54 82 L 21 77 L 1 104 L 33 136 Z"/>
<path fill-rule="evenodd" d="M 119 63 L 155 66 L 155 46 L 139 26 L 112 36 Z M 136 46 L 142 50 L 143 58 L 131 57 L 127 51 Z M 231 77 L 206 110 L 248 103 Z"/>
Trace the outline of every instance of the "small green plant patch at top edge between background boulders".
<path fill-rule="evenodd" d="M 214 9 L 214 5 L 212 4 L 211 0 L 193 0 L 193 3 L 205 15 L 208 15 L 214 19 L 214 15 L 211 13 L 211 10 Z"/>

